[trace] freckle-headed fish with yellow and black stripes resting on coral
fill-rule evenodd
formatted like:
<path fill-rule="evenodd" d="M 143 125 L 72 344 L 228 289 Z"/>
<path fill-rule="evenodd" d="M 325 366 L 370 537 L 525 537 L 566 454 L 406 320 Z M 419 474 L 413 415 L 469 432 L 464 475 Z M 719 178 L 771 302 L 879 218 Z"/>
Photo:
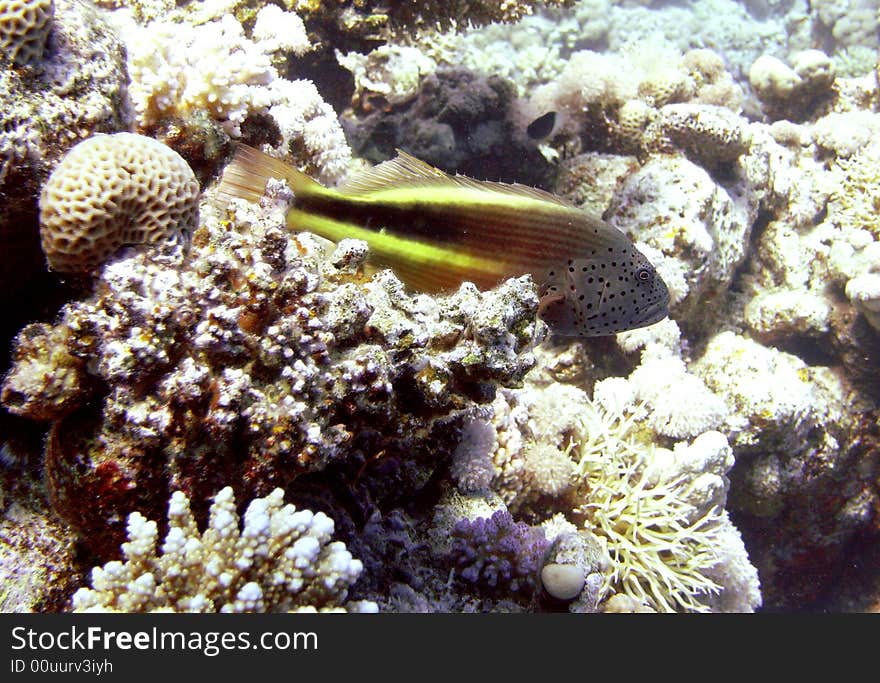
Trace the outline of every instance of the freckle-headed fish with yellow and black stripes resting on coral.
<path fill-rule="evenodd" d="M 369 262 L 422 292 L 469 280 L 488 289 L 526 273 L 539 314 L 562 336 L 593 337 L 667 315 L 663 279 L 623 232 L 560 197 L 518 184 L 451 176 L 409 154 L 339 188 L 239 145 L 221 196 L 258 201 L 270 178 L 295 194 L 292 230 L 369 245 Z"/>

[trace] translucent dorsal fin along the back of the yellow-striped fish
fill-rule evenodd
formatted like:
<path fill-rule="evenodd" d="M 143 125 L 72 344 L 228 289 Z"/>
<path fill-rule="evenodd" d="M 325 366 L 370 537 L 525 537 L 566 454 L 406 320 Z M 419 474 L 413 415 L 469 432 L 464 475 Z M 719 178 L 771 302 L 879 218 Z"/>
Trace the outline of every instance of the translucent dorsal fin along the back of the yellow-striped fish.
<path fill-rule="evenodd" d="M 496 192 L 515 197 L 529 197 L 572 208 L 574 205 L 536 187 L 519 183 L 501 183 L 475 180 L 463 175 L 449 175 L 412 154 L 397 150 L 397 156 L 347 180 L 339 192 L 346 195 L 365 195 L 384 190 L 403 188 L 461 187 L 480 192 Z"/>

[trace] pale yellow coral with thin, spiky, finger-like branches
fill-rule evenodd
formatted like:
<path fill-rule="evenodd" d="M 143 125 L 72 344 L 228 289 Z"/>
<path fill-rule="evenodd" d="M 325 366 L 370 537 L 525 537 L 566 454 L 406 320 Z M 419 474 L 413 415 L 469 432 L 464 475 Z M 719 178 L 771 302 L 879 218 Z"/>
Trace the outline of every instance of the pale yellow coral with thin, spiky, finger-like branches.
<path fill-rule="evenodd" d="M 714 548 L 723 513 L 689 502 L 686 474 L 663 476 L 649 467 L 655 451 L 639 436 L 640 418 L 595 406 L 572 446 L 589 488 L 577 512 L 612 560 L 600 599 L 624 593 L 658 611 L 709 611 L 700 598 L 722 590 L 709 576 L 720 561 Z"/>

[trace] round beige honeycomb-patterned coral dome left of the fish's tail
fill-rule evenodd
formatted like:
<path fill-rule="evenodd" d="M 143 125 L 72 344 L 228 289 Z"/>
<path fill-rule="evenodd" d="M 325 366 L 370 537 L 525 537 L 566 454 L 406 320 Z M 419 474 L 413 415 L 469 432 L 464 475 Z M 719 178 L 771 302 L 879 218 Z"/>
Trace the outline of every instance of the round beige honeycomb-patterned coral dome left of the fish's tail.
<path fill-rule="evenodd" d="M 199 183 L 184 159 L 141 135 L 89 138 L 68 152 L 40 197 L 40 238 L 53 270 L 84 272 L 125 244 L 195 227 Z"/>

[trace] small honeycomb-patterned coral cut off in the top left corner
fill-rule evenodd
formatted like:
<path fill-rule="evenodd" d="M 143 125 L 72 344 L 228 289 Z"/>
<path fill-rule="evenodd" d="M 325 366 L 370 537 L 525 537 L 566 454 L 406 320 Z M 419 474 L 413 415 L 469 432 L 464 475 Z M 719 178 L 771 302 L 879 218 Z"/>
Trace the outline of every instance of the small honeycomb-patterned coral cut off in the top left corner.
<path fill-rule="evenodd" d="M 0 51 L 18 66 L 39 62 L 54 14 L 52 0 L 0 1 Z"/>

